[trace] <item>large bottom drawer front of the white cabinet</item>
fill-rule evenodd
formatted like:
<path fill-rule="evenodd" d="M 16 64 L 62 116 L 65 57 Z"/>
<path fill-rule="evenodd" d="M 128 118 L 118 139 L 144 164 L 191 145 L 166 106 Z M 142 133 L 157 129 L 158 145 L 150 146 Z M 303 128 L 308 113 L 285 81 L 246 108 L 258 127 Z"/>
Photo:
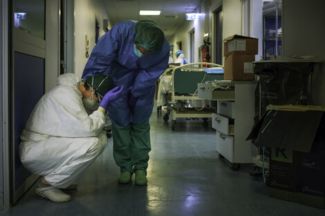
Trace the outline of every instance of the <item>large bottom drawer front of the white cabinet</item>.
<path fill-rule="evenodd" d="M 216 131 L 216 151 L 231 163 L 234 162 L 234 137 Z"/>

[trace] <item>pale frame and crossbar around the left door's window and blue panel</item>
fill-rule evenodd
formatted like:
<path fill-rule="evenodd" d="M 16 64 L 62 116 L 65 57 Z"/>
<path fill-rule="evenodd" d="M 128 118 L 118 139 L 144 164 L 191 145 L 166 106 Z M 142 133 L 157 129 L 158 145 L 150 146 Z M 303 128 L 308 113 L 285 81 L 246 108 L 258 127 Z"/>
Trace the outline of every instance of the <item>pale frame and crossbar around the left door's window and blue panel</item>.
<path fill-rule="evenodd" d="M 26 193 L 39 178 L 30 175 L 15 188 L 15 52 L 41 57 L 45 61 L 44 91 L 47 92 L 56 86 L 59 76 L 59 19 L 60 1 L 44 0 L 45 2 L 45 36 L 40 39 L 17 28 L 13 28 L 15 0 L 0 0 L 2 45 L 2 132 L 3 132 L 3 204 L 10 206 Z M 48 26 L 46 28 L 46 26 Z M 4 32 L 8 34 L 4 35 Z"/>

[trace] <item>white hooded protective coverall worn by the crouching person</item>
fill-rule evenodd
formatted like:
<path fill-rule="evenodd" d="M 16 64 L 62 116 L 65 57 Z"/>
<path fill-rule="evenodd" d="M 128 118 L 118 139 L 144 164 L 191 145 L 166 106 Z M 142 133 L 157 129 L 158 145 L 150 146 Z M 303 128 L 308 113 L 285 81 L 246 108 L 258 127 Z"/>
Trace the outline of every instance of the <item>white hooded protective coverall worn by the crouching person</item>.
<path fill-rule="evenodd" d="M 59 76 L 57 86 L 39 99 L 21 134 L 21 163 L 56 188 L 70 186 L 107 144 L 104 114 L 87 114 L 79 81 L 71 73 Z"/>

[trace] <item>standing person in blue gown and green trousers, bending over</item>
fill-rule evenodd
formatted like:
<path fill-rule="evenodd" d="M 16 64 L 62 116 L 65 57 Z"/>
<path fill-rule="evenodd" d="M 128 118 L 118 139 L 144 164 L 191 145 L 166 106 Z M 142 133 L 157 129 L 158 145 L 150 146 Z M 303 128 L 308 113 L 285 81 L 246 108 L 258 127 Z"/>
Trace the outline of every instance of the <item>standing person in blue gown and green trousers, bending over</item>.
<path fill-rule="evenodd" d="M 126 86 L 122 97 L 108 108 L 112 121 L 113 156 L 120 166 L 120 184 L 147 184 L 149 117 L 155 84 L 169 60 L 169 43 L 154 21 L 122 21 L 96 44 L 82 77 L 104 74 L 116 86 Z"/>

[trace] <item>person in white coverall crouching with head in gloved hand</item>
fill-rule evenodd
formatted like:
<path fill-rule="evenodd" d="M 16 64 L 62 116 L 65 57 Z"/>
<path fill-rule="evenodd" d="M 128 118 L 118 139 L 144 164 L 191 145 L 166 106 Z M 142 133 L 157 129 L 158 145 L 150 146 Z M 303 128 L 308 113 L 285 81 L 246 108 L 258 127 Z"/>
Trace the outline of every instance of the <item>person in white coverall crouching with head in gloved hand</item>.
<path fill-rule="evenodd" d="M 38 195 L 53 202 L 71 200 L 61 189 L 76 188 L 75 180 L 106 148 L 104 113 L 124 90 L 123 86 L 112 88 L 104 75 L 80 81 L 67 73 L 39 99 L 19 146 L 21 163 L 41 176 Z M 91 115 L 86 109 L 92 110 Z"/>

